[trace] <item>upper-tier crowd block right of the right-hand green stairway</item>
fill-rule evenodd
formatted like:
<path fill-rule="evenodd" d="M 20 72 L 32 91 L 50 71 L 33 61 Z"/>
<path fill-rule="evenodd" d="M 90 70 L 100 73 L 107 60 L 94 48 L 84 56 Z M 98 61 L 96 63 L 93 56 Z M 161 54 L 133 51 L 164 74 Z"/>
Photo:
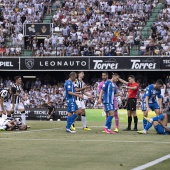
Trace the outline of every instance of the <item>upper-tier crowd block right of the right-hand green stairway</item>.
<path fill-rule="evenodd" d="M 170 55 L 170 1 L 166 0 L 157 20 L 152 24 L 150 37 L 143 41 L 140 55 Z"/>

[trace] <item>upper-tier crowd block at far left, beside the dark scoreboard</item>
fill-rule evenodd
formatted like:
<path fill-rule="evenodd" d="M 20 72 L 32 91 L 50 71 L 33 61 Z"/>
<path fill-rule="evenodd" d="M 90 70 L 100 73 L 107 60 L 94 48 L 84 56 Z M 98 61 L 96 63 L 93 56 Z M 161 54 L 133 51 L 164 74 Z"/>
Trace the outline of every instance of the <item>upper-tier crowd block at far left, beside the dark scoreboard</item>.
<path fill-rule="evenodd" d="M 0 55 L 21 55 L 23 24 L 42 22 L 45 13 L 51 14 L 51 0 L 1 0 Z"/>

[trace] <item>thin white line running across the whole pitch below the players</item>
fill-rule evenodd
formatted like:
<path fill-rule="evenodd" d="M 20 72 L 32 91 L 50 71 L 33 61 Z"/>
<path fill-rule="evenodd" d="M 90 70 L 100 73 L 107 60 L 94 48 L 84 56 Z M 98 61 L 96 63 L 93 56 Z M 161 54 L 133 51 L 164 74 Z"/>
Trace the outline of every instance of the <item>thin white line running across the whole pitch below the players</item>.
<path fill-rule="evenodd" d="M 65 141 L 65 142 L 112 142 L 112 143 L 152 143 L 152 144 L 170 144 L 170 142 L 153 142 L 153 141 L 116 141 L 116 140 L 69 140 L 69 139 L 46 139 L 46 138 L 0 138 L 0 140 L 18 140 L 18 141 Z"/>

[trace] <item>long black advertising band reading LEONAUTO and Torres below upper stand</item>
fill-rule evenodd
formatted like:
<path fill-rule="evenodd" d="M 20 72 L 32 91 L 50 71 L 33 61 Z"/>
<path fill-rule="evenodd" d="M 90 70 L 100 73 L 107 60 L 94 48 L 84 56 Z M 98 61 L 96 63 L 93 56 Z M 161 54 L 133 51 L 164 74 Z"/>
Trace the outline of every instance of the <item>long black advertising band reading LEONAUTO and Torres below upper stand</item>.
<path fill-rule="evenodd" d="M 1 71 L 165 71 L 170 57 L 0 58 Z"/>

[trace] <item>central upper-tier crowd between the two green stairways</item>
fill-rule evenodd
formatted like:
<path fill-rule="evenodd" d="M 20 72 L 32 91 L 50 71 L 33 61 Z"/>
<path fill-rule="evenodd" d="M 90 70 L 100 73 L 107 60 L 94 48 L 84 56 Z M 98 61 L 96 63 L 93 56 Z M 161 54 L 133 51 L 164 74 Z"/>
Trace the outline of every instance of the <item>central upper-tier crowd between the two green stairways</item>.
<path fill-rule="evenodd" d="M 45 38 L 35 56 L 119 56 L 139 46 L 140 30 L 157 0 L 57 0 L 52 22 L 57 34 Z"/>

